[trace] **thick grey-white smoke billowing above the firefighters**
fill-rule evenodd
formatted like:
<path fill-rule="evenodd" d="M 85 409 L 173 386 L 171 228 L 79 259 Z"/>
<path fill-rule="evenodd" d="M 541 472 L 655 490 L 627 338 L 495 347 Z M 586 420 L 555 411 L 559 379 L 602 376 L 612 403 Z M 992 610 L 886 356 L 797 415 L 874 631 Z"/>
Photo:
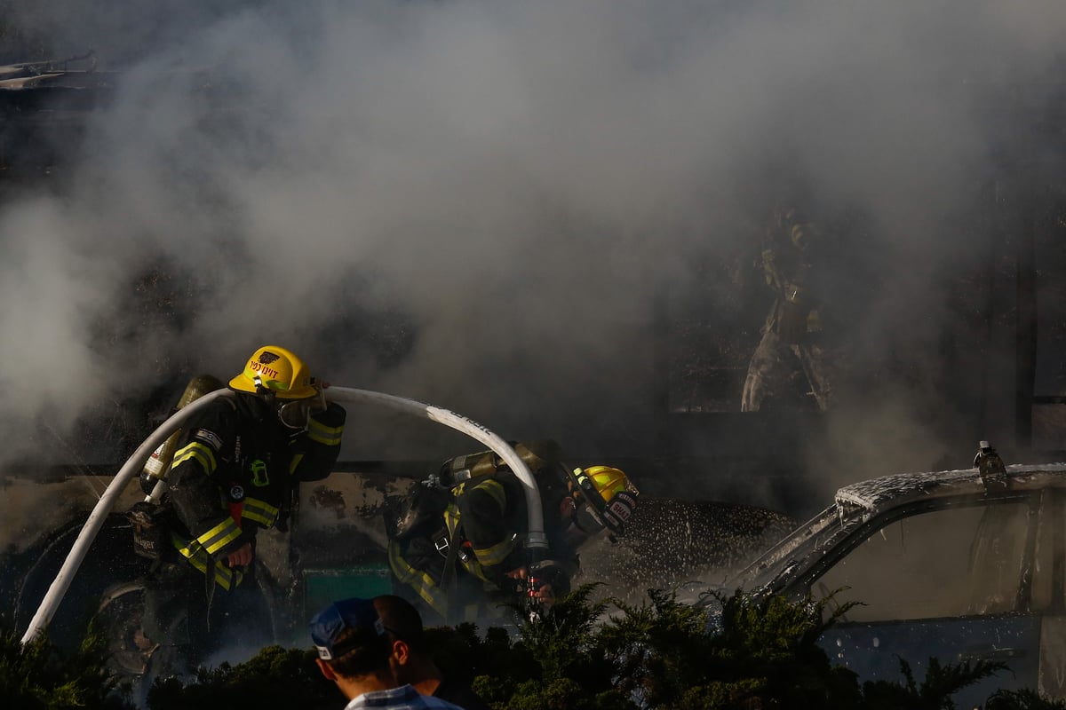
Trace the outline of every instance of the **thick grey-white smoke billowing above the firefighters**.
<path fill-rule="evenodd" d="M 921 350 L 969 246 L 944 217 L 1004 129 L 987 98 L 1049 76 L 1066 30 L 1052 1 L 70 4 L 12 22 L 123 79 L 69 188 L 0 208 L 13 449 L 266 342 L 508 437 L 635 441 L 656 298 L 781 170 L 870 215 L 890 287 L 862 342 L 906 324 Z M 138 315 L 151 267 L 180 317 Z M 383 311 L 410 335 L 387 367 L 351 315 Z"/>

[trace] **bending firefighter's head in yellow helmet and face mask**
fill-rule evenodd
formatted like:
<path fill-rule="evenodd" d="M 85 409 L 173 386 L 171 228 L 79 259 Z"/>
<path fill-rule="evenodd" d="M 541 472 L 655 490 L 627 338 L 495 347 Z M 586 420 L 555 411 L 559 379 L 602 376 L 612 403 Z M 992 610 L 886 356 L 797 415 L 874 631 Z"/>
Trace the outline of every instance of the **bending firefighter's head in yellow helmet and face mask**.
<path fill-rule="evenodd" d="M 566 536 L 575 547 L 603 530 L 612 535 L 624 534 L 640 496 L 626 474 L 612 466 L 575 468 L 569 493 L 564 522 L 568 525 Z"/>

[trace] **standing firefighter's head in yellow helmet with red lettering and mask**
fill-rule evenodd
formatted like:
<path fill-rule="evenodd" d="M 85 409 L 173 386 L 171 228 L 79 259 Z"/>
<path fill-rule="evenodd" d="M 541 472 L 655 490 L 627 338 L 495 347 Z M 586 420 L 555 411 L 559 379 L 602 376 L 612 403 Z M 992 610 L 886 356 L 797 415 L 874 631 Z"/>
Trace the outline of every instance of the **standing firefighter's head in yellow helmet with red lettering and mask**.
<path fill-rule="evenodd" d="M 277 345 L 253 352 L 244 369 L 229 381 L 229 387 L 258 397 L 292 431 L 303 431 L 311 412 L 326 406 L 322 383 L 311 377 L 303 360 Z"/>

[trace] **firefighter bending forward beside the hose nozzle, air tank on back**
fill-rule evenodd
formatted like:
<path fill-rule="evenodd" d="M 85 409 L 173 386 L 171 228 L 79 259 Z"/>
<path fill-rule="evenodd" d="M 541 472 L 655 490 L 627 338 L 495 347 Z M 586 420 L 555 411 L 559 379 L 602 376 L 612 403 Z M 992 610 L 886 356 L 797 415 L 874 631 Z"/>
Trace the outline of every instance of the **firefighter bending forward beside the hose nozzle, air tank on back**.
<path fill-rule="evenodd" d="M 394 592 L 427 620 L 485 623 L 507 606 L 550 608 L 570 589 L 578 549 L 599 534 L 624 533 L 639 496 L 626 474 L 611 466 L 571 470 L 550 441 L 514 448 L 540 493 L 543 559 L 530 564 L 527 497 L 506 463 L 491 451 L 451 459 L 390 531 Z"/>

